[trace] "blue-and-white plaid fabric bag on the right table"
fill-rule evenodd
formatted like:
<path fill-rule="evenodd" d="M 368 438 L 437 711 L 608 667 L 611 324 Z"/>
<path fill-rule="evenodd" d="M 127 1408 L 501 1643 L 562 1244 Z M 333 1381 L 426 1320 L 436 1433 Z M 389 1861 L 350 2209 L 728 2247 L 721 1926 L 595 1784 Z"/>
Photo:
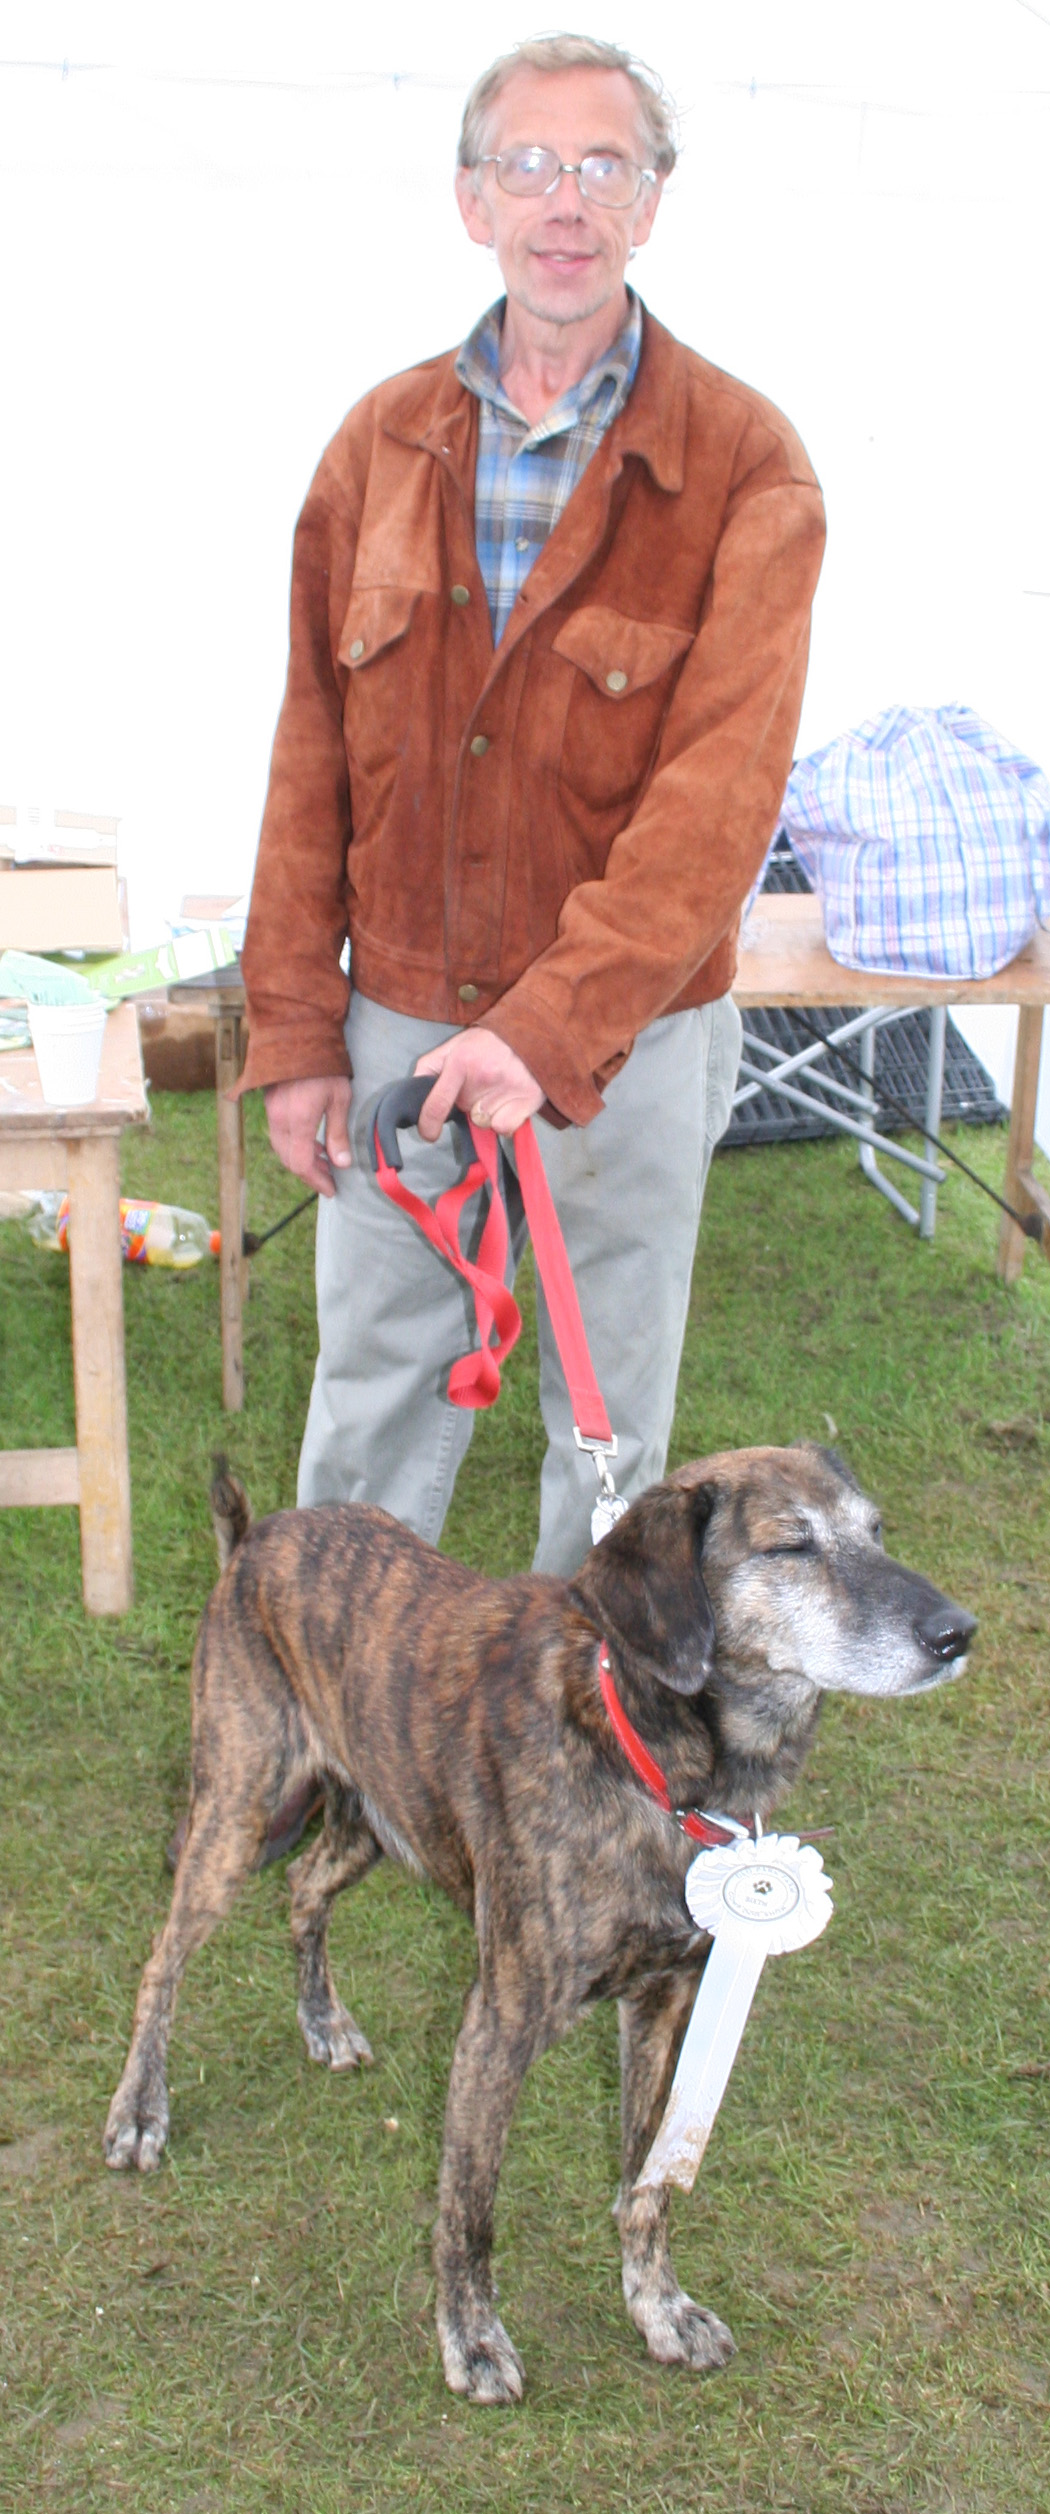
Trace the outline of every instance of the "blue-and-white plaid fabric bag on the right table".
<path fill-rule="evenodd" d="M 970 706 L 889 706 L 791 769 L 781 822 L 844 968 L 992 978 L 1050 925 L 1050 782 Z"/>

